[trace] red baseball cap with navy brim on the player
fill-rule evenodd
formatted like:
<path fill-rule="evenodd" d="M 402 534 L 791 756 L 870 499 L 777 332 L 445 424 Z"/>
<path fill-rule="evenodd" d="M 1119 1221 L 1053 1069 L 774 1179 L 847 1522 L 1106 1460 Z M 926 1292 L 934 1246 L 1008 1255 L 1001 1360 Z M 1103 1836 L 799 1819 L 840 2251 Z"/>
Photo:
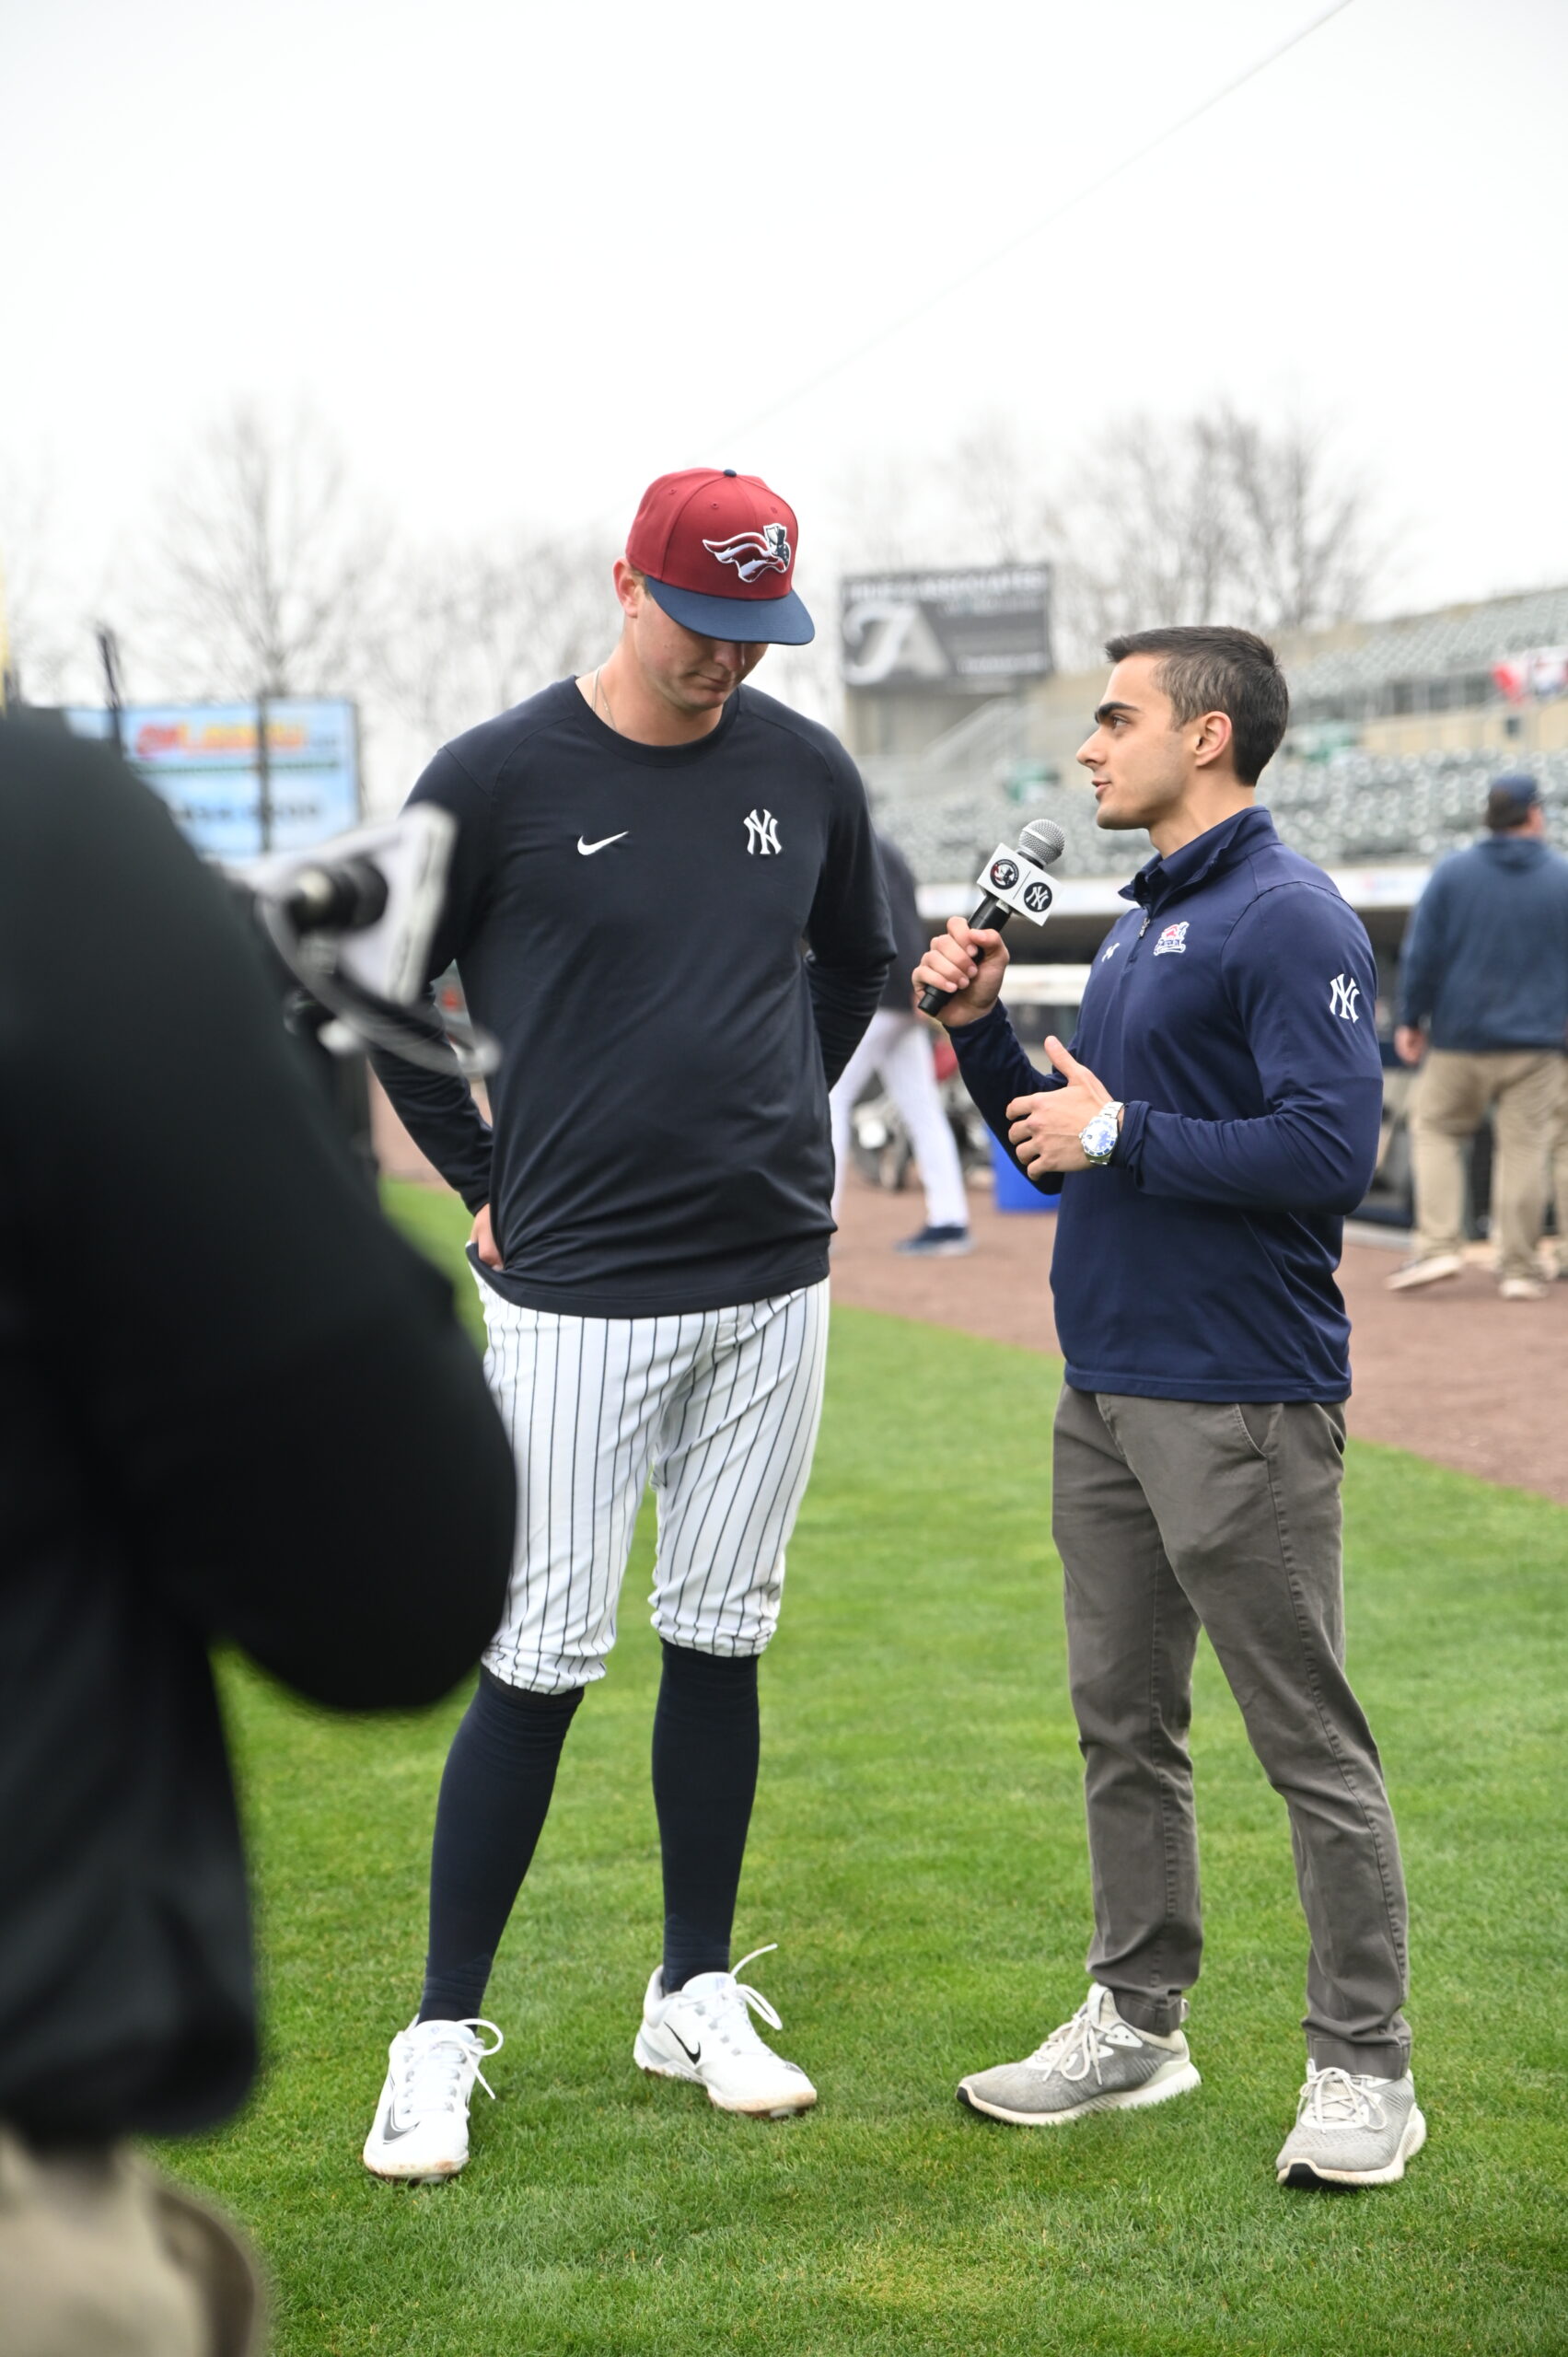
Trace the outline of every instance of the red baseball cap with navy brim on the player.
<path fill-rule="evenodd" d="M 816 625 L 790 587 L 797 547 L 795 509 L 762 476 L 686 467 L 644 490 L 627 563 L 703 639 L 806 646 Z"/>

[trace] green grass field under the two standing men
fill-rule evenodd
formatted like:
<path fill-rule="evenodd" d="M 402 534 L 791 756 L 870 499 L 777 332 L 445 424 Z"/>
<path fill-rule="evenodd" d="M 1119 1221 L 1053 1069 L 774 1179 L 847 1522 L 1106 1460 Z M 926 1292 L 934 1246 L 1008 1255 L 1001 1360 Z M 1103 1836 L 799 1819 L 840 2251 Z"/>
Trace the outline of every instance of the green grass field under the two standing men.
<path fill-rule="evenodd" d="M 394 1207 L 455 1254 L 455 1204 Z M 931 1417 L 938 1388 L 957 1414 Z M 747 1978 L 821 2088 L 799 2121 L 726 2119 L 632 2067 L 658 1959 L 646 1525 L 490 1987 L 500 2100 L 476 2095 L 474 2161 L 446 2187 L 380 2185 L 358 2145 L 420 1985 L 462 1697 L 342 1723 L 226 1676 L 271 2065 L 241 2121 L 174 2159 L 266 2251 L 283 2357 L 1568 2348 L 1568 1513 L 1540 1499 L 1351 1450 L 1351 1662 L 1405 1841 L 1431 2121 L 1403 2187 L 1273 2183 L 1302 2074 L 1304 1930 L 1283 1808 L 1207 1652 L 1203 2091 L 1035 2133 L 955 2105 L 964 2069 L 1028 2051 L 1082 1994 L 1054 1388 L 1045 1358 L 835 1318 L 736 1926 L 738 1952 L 780 1942 Z"/>

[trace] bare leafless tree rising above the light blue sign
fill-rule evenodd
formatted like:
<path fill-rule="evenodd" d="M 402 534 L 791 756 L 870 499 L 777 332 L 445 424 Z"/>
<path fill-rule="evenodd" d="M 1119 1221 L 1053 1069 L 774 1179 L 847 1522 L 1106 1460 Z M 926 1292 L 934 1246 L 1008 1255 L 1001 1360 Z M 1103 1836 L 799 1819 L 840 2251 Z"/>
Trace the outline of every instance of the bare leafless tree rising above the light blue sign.
<path fill-rule="evenodd" d="M 387 533 L 309 412 L 241 403 L 165 495 L 141 580 L 146 636 L 196 693 L 344 695 L 380 634 Z"/>

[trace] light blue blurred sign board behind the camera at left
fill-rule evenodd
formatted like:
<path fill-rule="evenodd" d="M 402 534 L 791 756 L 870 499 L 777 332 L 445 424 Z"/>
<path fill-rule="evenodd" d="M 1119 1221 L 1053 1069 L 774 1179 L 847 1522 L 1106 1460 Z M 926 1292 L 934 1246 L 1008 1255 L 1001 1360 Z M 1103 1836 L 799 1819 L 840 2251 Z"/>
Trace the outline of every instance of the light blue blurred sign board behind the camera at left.
<path fill-rule="evenodd" d="M 75 735 L 113 738 L 113 714 L 71 705 Z M 278 698 L 266 705 L 266 799 L 271 841 L 262 841 L 262 775 L 255 705 L 125 705 L 125 759 L 160 794 L 207 858 L 250 860 L 259 851 L 304 851 L 356 827 L 358 714 L 335 698 Z"/>

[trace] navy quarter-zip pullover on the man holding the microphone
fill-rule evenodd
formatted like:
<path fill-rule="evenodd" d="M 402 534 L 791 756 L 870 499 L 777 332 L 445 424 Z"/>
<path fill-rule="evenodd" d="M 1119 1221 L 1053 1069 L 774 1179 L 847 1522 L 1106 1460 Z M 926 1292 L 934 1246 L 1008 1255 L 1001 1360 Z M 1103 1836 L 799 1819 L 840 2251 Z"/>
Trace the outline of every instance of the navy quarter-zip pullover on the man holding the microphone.
<path fill-rule="evenodd" d="M 1382 1117 L 1365 929 L 1264 808 L 1151 860 L 1122 898 L 1134 905 L 1094 959 L 1070 1042 L 1127 1110 L 1113 1162 L 1061 1181 L 1068 1384 L 1344 1400 L 1335 1268 Z M 1063 1087 L 1000 1006 L 953 1047 L 1002 1143 L 1014 1096 Z"/>

